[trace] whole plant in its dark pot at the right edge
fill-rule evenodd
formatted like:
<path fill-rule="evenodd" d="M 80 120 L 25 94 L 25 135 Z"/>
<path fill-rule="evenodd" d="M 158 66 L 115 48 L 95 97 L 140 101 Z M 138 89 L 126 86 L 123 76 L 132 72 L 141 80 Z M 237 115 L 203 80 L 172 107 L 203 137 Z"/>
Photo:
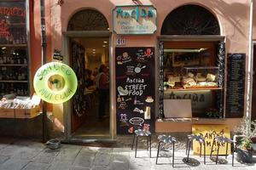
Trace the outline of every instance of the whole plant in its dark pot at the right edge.
<path fill-rule="evenodd" d="M 236 127 L 234 140 L 236 142 L 236 152 L 239 161 L 252 163 L 253 161 L 253 141 L 256 137 L 256 122 L 251 122 L 245 118 L 239 127 Z"/>

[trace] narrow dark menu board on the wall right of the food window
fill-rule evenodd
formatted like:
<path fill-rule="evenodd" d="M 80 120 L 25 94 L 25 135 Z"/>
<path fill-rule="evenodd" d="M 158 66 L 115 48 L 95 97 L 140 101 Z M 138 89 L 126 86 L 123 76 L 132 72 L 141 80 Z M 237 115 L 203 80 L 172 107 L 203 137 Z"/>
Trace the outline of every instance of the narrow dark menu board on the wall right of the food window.
<path fill-rule="evenodd" d="M 244 111 L 246 54 L 228 54 L 226 117 L 242 117 Z"/>

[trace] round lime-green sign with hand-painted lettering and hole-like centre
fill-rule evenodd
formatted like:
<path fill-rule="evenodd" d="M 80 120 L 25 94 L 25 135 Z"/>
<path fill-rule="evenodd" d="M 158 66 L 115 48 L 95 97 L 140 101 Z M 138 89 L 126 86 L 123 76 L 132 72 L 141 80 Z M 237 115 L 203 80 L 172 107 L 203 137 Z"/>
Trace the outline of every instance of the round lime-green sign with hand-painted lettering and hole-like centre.
<path fill-rule="evenodd" d="M 68 65 L 50 62 L 38 69 L 33 85 L 41 99 L 48 103 L 61 104 L 75 94 L 78 79 Z"/>

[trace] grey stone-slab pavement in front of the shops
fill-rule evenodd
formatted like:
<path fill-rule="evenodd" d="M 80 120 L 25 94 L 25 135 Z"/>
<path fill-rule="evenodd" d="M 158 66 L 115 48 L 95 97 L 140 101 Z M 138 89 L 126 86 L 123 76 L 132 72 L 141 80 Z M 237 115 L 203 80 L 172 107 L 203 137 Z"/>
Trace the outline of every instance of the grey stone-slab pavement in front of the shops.
<path fill-rule="evenodd" d="M 235 161 L 231 166 L 231 156 L 228 164 L 215 165 L 207 156 L 207 165 L 204 165 L 200 156 L 191 156 L 199 161 L 199 165 L 191 167 L 183 163 L 185 150 L 175 152 L 175 167 L 172 167 L 172 157 L 160 157 L 159 164 L 155 165 L 156 148 L 152 149 L 152 158 L 148 151 L 139 149 L 138 158 L 134 157 L 134 150 L 125 147 L 92 147 L 72 144 L 61 144 L 59 150 L 49 150 L 39 141 L 24 139 L 0 139 L 0 170 L 128 170 L 128 169 L 178 169 L 178 170 L 225 170 L 242 169 L 255 170 L 256 165 L 241 164 Z M 172 156 L 172 150 L 161 150 L 160 156 Z M 254 158 L 254 162 L 255 158 Z"/>

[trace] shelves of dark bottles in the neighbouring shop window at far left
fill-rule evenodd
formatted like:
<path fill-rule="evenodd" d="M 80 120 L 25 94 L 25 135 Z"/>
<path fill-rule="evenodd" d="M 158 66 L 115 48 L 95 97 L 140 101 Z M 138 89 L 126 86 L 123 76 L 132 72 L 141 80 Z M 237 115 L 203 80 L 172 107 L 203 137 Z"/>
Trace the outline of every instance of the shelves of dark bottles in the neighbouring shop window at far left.
<path fill-rule="evenodd" d="M 26 1 L 0 2 L 0 8 L 19 13 L 0 14 L 0 97 L 29 95 Z"/>

